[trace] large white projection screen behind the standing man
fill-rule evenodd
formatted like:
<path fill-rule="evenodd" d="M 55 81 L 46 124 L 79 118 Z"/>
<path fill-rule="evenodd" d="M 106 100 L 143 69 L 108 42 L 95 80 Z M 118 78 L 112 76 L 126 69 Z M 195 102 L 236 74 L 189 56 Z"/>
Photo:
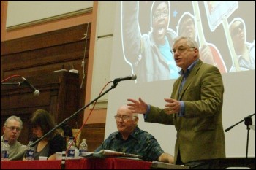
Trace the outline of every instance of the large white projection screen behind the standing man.
<path fill-rule="evenodd" d="M 116 110 L 127 104 L 127 98 L 143 98 L 148 104 L 163 108 L 164 98 L 170 98 L 177 70 L 171 58 L 145 61 L 137 53 L 143 49 L 140 39 L 151 33 L 153 1 L 118 1 L 113 39 L 113 58 L 110 77 L 136 74 L 136 81 L 119 82 L 108 94 L 105 138 L 116 129 Z M 169 11 L 159 12 L 157 18 L 168 16 L 167 23 L 159 24 L 157 31 L 167 25 L 170 36 L 194 37 L 200 49 L 210 47 L 214 58 L 201 58 L 217 66 L 225 85 L 222 120 L 224 129 L 255 113 L 255 1 L 168 1 Z M 154 8 L 154 5 L 153 5 Z M 235 24 L 235 25 L 233 25 Z M 233 28 L 230 28 L 230 27 Z M 241 33 L 242 32 L 242 33 Z M 247 47 L 246 61 L 238 54 L 238 41 Z M 146 47 L 144 47 L 146 48 Z M 145 50 L 145 49 L 144 49 Z M 166 61 L 170 72 L 157 71 L 158 64 Z M 155 63 L 154 63 L 155 62 Z M 157 63 L 158 62 L 158 63 Z M 174 69 L 171 69 L 174 68 Z M 139 127 L 153 134 L 162 148 L 174 154 L 176 130 L 172 125 L 144 123 L 139 115 Z M 252 116 L 255 125 L 255 116 Z M 249 131 L 249 157 L 255 157 L 255 131 Z M 227 158 L 245 158 L 247 130 L 244 122 L 225 132 Z"/>

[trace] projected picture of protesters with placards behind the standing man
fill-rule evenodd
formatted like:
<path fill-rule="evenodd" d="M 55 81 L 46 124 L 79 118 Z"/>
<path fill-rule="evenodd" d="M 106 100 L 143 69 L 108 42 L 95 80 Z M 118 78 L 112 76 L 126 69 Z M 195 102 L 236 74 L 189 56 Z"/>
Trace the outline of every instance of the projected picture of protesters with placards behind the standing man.
<path fill-rule="evenodd" d="M 122 1 L 124 61 L 138 82 L 176 79 L 173 40 L 190 36 L 200 59 L 222 74 L 255 69 L 255 15 L 248 18 L 244 10 L 241 1 Z"/>

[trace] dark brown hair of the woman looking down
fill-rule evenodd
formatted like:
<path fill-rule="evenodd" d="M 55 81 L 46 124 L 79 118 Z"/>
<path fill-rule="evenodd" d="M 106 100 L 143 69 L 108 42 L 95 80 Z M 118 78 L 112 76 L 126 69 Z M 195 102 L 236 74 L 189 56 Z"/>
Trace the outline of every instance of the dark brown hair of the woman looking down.
<path fill-rule="evenodd" d="M 55 127 L 53 116 L 44 109 L 38 109 L 36 112 L 34 112 L 30 123 L 32 128 L 40 127 L 43 135 Z M 46 136 L 46 138 L 50 140 L 55 134 L 56 133 L 50 133 L 48 136 Z"/>

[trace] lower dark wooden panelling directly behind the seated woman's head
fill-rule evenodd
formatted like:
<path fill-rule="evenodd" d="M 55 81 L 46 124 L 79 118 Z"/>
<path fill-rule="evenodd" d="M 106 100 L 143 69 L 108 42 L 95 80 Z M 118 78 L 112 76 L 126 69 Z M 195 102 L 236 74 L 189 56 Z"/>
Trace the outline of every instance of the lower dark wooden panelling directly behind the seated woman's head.
<path fill-rule="evenodd" d="M 56 72 L 39 77 L 30 77 L 29 82 L 40 91 L 34 96 L 27 86 L 2 87 L 1 91 L 1 120 L 10 115 L 18 115 L 25 120 L 23 126 L 31 131 L 28 119 L 37 109 L 45 109 L 53 114 L 56 123 L 61 123 L 79 109 L 80 88 L 78 74 L 71 72 Z M 26 116 L 26 119 L 24 117 Z M 4 117 L 4 119 L 3 119 Z M 76 115 L 67 124 L 72 127 L 76 122 L 82 124 L 83 115 Z M 31 137 L 30 131 L 23 131 L 24 139 Z M 25 134 L 28 132 L 27 134 Z"/>

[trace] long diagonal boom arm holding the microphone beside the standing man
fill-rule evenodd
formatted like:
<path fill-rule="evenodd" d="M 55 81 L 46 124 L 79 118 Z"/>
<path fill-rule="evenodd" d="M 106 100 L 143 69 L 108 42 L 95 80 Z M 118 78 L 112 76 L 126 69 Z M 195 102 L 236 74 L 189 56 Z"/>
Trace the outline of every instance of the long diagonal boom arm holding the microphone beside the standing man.
<path fill-rule="evenodd" d="M 113 88 L 116 88 L 116 85 L 118 84 L 118 82 L 113 82 L 113 85 L 108 89 L 105 90 L 104 93 L 102 93 L 101 95 L 99 95 L 97 98 L 94 98 L 94 100 L 92 100 L 89 104 L 86 104 L 85 106 L 83 106 L 82 108 L 78 109 L 77 112 L 75 112 L 73 115 L 71 115 L 70 117 L 67 117 L 65 120 L 63 120 L 61 123 L 59 123 L 58 125 L 56 125 L 52 130 L 48 131 L 48 133 L 46 133 L 45 135 L 43 135 L 41 138 L 37 139 L 37 141 L 35 141 L 33 144 L 31 144 L 31 147 L 34 147 L 34 145 L 36 145 L 37 143 L 39 143 L 40 141 L 42 141 L 42 139 L 45 138 L 45 136 L 48 136 L 48 134 L 52 133 L 53 131 L 55 131 L 57 128 L 59 128 L 61 125 L 64 125 L 64 123 L 67 123 L 67 121 L 69 121 L 70 119 L 72 119 L 72 117 L 75 117 L 75 115 L 78 115 L 79 112 L 81 112 L 83 109 L 86 109 L 86 107 L 89 107 L 91 104 L 94 103 L 94 101 L 97 101 L 99 98 L 101 98 L 102 96 L 104 96 L 106 93 L 108 93 L 110 90 L 112 90 Z"/>

